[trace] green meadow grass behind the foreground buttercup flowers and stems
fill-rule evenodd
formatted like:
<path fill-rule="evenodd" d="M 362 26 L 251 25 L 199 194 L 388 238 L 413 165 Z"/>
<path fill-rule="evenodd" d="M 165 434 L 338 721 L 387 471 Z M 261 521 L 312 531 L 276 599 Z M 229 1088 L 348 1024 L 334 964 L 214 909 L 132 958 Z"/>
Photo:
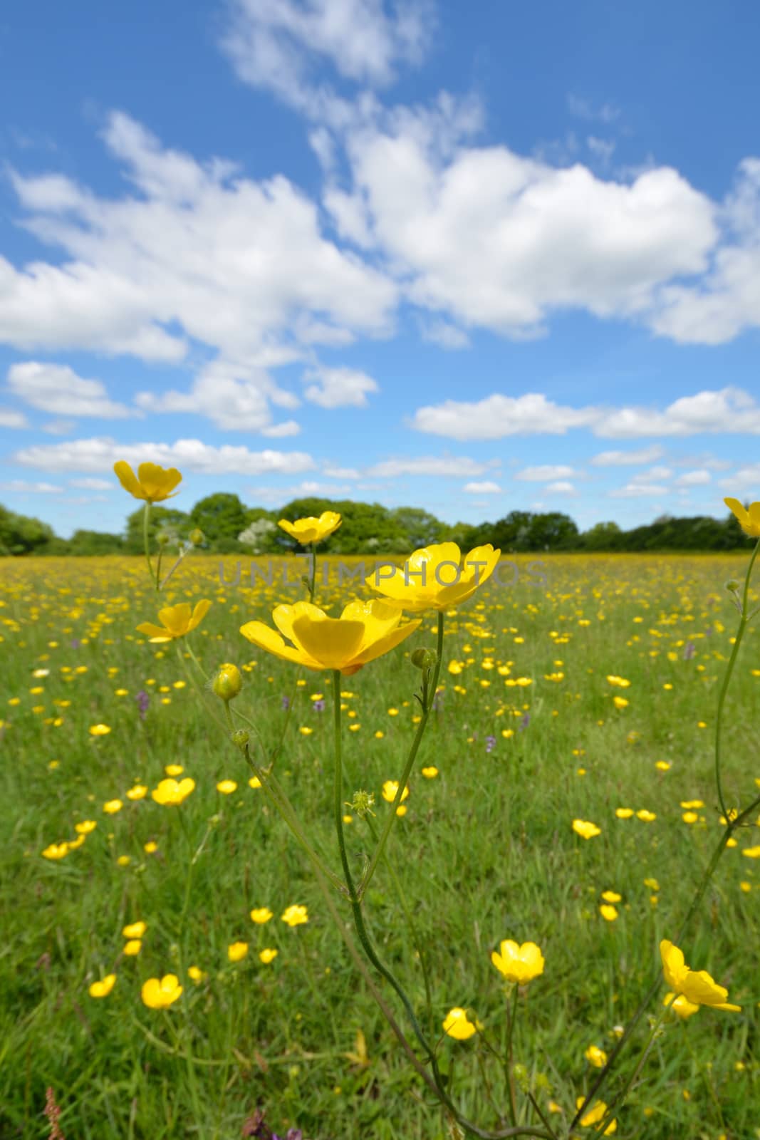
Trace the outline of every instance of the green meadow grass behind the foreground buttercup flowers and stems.
<path fill-rule="evenodd" d="M 430 1013 L 419 954 L 382 863 L 367 920 L 434 1040 L 459 1005 L 502 1042 L 505 993 L 490 953 L 504 938 L 540 945 L 546 969 L 520 997 L 514 1051 L 542 1112 L 549 1115 L 549 1101 L 561 1109 L 549 1118 L 564 1137 L 575 1098 L 597 1072 L 585 1051 L 611 1050 L 720 837 L 714 717 L 737 620 L 724 583 L 743 575 L 746 557 L 544 561 L 545 588 L 525 576 L 512 588 L 489 584 L 447 617 L 443 692 L 389 844 L 428 962 Z M 230 580 L 234 560 L 224 562 Z M 297 1126 L 310 1140 L 448 1137 L 352 967 L 302 853 L 206 712 L 204 700 L 218 716 L 221 702 L 194 690 L 185 643 L 178 653 L 136 633 L 138 622 L 155 620 L 158 604 L 213 601 L 188 644 L 207 671 L 223 661 L 243 669 L 231 708 L 253 719 L 268 746 L 287 720 L 276 771 L 337 871 L 330 675 L 245 642 L 239 626 L 268 620 L 284 591 L 277 581 L 246 587 L 245 575 L 240 586 L 222 586 L 219 569 L 219 559 L 188 559 L 158 603 L 139 559 L 0 561 L 0 1140 L 50 1134 L 48 1088 L 67 1140 L 232 1140 L 256 1106 L 279 1135 Z M 352 596 L 319 584 L 317 594 L 333 613 Z M 297 596 L 292 587 L 289 597 Z M 400 649 L 344 678 L 346 799 L 374 792 L 376 825 L 390 809 L 383 782 L 399 777 L 418 715 L 419 673 L 409 654 L 433 648 L 434 630 L 434 614 L 425 614 Z M 758 790 L 759 643 L 755 621 L 726 708 L 729 805 Z M 611 685 L 608 675 L 630 686 Z M 517 677 L 532 683 L 506 683 Z M 139 693 L 149 699 L 144 717 Z M 293 698 L 289 711 L 284 697 Z M 614 697 L 628 706 L 615 708 Z M 97 724 L 111 732 L 91 735 Z M 161 806 L 149 793 L 126 798 L 136 783 L 154 788 L 172 764 L 196 781 L 181 806 Z M 422 775 L 430 766 L 433 779 Z M 223 779 L 236 781 L 234 793 L 216 790 Z M 104 813 L 114 798 L 121 811 Z M 703 801 L 690 824 L 681 807 L 689 800 Z M 620 820 L 618 807 L 656 819 Z M 600 834 L 581 839 L 575 817 Z M 84 820 L 97 828 L 81 847 L 42 857 L 49 844 L 74 839 Z M 373 844 L 356 814 L 346 837 L 360 873 Z M 754 825 L 742 830 L 683 942 L 687 962 L 709 969 L 743 1010 L 703 1008 L 667 1026 L 618 1114 L 621 1138 L 760 1135 L 760 878 L 742 854 L 759 841 Z M 157 845 L 152 853 L 148 842 Z M 120 856 L 129 856 L 126 865 Z M 605 890 L 621 895 L 614 921 L 599 912 Z M 294 903 L 308 906 L 309 921 L 289 928 L 280 914 Z M 254 925 L 248 912 L 262 906 L 273 918 Z M 124 956 L 122 928 L 138 919 L 147 923 L 141 952 Z M 231 963 L 227 947 L 237 940 L 250 950 Z M 264 947 L 278 951 L 269 964 L 259 959 Z M 187 976 L 190 964 L 202 980 Z M 91 997 L 90 984 L 111 972 L 111 994 Z M 180 975 L 181 999 L 148 1009 L 142 982 L 167 972 Z M 392 991 L 381 988 L 403 1024 Z M 480 1036 L 443 1037 L 441 1066 L 463 1112 L 496 1127 L 505 1078 Z M 646 1040 L 645 1021 L 605 1100 Z"/>

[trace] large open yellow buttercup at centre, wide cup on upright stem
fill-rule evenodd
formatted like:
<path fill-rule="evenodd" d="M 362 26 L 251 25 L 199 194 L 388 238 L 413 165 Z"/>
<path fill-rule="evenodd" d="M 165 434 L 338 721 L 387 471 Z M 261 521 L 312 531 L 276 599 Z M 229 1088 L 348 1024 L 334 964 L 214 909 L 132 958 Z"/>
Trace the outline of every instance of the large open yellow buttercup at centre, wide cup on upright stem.
<path fill-rule="evenodd" d="M 277 605 L 276 633 L 263 621 L 247 621 L 240 633 L 254 645 L 309 669 L 340 669 L 350 676 L 394 649 L 419 621 L 399 625 L 401 611 L 386 602 L 350 602 L 340 618 L 328 618 L 310 602 Z M 292 645 L 286 644 L 285 637 Z"/>

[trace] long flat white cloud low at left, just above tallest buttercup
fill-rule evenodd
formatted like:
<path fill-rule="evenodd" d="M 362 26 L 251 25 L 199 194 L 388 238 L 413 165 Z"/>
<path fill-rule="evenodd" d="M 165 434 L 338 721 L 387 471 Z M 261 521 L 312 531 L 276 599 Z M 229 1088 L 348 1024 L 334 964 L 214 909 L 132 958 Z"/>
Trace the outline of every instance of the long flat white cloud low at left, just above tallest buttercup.
<path fill-rule="evenodd" d="M 77 439 L 38 443 L 13 458 L 40 471 L 112 471 L 115 459 L 126 459 L 132 466 L 158 463 L 203 475 L 297 474 L 314 467 L 314 461 L 304 451 L 251 451 L 228 443 L 211 447 L 199 439 L 179 439 L 174 443 L 119 443 L 107 437 Z"/>

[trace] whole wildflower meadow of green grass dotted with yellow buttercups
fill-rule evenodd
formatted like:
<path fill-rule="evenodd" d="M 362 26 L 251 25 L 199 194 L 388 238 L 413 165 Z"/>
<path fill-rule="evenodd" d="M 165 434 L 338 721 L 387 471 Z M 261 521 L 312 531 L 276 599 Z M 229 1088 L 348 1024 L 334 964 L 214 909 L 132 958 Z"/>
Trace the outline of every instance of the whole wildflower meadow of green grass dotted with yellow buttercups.
<path fill-rule="evenodd" d="M 760 505 L 236 575 L 116 477 L 0 560 L 1 1140 L 760 1137 Z"/>

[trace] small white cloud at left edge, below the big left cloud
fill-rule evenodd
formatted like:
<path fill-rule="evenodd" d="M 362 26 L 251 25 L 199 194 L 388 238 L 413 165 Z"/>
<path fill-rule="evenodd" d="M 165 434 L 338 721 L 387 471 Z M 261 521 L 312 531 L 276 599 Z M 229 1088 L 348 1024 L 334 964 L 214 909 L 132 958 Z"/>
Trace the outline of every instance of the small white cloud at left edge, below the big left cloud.
<path fill-rule="evenodd" d="M 25 360 L 11 365 L 6 380 L 14 396 L 52 415 L 97 416 L 100 420 L 125 420 L 134 415 L 125 404 L 109 399 L 101 381 L 83 380 L 67 365 Z"/>

